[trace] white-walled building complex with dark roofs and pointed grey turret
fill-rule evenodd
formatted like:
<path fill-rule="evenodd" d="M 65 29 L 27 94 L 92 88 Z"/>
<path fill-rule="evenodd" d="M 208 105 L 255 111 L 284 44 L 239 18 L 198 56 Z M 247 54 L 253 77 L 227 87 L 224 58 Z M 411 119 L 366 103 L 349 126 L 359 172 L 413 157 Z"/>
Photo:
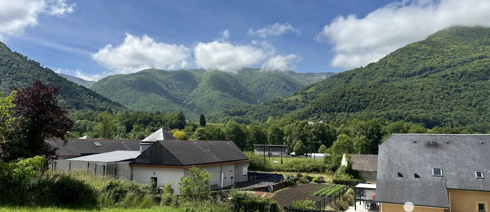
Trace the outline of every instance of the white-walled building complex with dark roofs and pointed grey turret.
<path fill-rule="evenodd" d="M 154 180 L 156 186 L 171 182 L 176 194 L 180 177 L 187 176 L 192 166 L 212 174 L 210 190 L 248 181 L 251 160 L 233 142 L 159 140 L 168 137 L 165 132 L 159 130 L 141 141 L 68 140 L 59 150 L 59 158 L 64 159 L 54 160 L 51 168 L 61 172 L 87 170 L 141 183 Z M 46 142 L 53 146 L 60 143 L 56 139 Z"/>

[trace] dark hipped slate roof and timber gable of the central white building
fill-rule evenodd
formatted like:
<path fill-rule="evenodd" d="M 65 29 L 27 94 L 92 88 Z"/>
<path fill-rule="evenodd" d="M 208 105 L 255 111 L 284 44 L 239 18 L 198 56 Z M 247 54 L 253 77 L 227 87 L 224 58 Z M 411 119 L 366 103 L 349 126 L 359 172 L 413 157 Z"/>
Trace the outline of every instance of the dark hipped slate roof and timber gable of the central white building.
<path fill-rule="evenodd" d="M 161 145 L 164 150 L 158 150 L 159 147 L 156 145 Z M 169 158 L 169 156 L 172 158 Z M 159 160 L 159 158 L 163 157 L 165 157 L 166 160 Z M 159 164 L 166 166 L 195 166 L 248 159 L 249 158 L 233 142 L 215 140 L 159 140 L 152 147 L 146 149 L 140 157 L 136 158 L 135 163 Z"/>

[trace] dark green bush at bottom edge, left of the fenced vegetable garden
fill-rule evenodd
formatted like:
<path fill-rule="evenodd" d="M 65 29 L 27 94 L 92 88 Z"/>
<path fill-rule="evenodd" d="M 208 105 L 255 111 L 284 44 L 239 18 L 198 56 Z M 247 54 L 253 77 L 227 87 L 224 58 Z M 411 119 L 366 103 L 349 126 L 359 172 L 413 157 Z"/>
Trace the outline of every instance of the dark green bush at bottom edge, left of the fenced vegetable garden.
<path fill-rule="evenodd" d="M 231 204 L 235 211 L 280 212 L 279 205 L 267 197 L 257 197 L 247 192 L 230 193 Z"/>

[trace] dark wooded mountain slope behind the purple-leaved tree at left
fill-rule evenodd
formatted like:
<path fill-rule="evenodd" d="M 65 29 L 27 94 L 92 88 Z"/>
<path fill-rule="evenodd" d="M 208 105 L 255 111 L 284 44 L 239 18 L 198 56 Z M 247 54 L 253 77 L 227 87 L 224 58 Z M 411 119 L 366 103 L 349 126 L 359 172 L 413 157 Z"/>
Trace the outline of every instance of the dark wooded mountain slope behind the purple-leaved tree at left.
<path fill-rule="evenodd" d="M 53 70 L 41 66 L 17 52 L 12 52 L 0 42 L 0 91 L 9 93 L 11 87 L 21 88 L 29 85 L 33 79 L 60 88 L 60 104 L 74 109 L 105 110 L 107 107 L 121 107 L 117 103 L 102 97 L 96 92 L 68 81 Z"/>

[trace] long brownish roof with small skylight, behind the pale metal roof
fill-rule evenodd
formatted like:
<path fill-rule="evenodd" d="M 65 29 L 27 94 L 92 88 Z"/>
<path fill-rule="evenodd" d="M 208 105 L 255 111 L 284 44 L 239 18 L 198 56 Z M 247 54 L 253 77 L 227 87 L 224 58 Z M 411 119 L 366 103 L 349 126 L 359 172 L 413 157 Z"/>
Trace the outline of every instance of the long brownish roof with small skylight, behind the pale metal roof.
<path fill-rule="evenodd" d="M 101 140 L 101 139 L 46 139 L 45 142 L 58 148 L 58 156 L 83 156 L 112 152 L 116 150 L 139 151 L 139 140 Z M 101 146 L 95 146 L 98 142 Z"/>

